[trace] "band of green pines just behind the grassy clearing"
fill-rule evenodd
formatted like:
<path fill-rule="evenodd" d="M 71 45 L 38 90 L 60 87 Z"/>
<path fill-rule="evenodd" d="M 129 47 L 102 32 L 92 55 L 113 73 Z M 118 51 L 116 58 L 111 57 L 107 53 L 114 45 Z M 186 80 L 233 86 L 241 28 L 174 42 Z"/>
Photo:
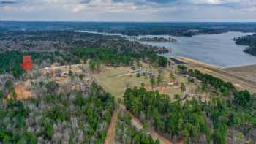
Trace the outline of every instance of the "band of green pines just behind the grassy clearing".
<path fill-rule="evenodd" d="M 133 61 L 138 59 L 148 59 L 147 62 L 155 64 L 159 67 L 167 66 L 167 58 L 158 56 L 153 51 L 135 51 L 130 48 L 123 48 L 118 50 L 117 48 L 76 48 L 74 49 L 74 55 L 87 61 L 91 61 L 93 65 L 97 63 L 110 64 L 112 66 L 117 65 L 132 65 Z"/>

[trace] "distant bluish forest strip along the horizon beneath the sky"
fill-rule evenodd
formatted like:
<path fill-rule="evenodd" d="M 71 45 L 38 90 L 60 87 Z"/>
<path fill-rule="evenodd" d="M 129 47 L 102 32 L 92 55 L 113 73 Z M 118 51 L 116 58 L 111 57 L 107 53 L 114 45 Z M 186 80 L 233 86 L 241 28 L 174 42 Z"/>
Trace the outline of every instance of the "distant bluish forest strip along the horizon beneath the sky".
<path fill-rule="evenodd" d="M 187 31 L 198 29 L 203 34 L 219 34 L 227 31 L 255 31 L 255 23 L 140 23 L 140 22 L 9 22 L 1 21 L 3 29 L 45 30 L 86 30 L 134 35 L 178 35 L 191 36 Z M 185 31 L 185 32 L 184 32 Z"/>

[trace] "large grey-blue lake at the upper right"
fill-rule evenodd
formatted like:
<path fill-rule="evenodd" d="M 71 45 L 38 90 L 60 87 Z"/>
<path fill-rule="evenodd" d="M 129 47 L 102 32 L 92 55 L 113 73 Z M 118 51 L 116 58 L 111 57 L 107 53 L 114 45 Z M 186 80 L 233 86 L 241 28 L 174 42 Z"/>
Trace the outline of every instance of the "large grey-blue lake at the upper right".
<path fill-rule="evenodd" d="M 256 64 L 256 56 L 244 53 L 244 45 L 236 45 L 234 37 L 241 37 L 252 33 L 228 32 L 224 34 L 197 35 L 193 37 L 172 37 L 178 40 L 173 42 L 143 42 L 150 45 L 171 48 L 171 53 L 164 56 L 184 56 L 197 61 L 203 61 L 218 67 L 235 67 Z M 140 36 L 155 37 L 155 36 Z"/>

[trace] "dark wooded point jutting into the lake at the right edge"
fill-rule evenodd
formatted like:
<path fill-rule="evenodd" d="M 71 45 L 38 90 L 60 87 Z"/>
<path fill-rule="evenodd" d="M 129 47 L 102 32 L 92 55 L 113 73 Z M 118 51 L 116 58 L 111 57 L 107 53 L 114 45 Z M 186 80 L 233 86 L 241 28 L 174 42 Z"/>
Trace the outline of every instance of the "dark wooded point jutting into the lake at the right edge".
<path fill-rule="evenodd" d="M 244 37 L 238 37 L 234 39 L 238 45 L 247 45 L 248 47 L 244 50 L 246 53 L 250 53 L 256 56 L 256 34 L 248 35 Z"/>

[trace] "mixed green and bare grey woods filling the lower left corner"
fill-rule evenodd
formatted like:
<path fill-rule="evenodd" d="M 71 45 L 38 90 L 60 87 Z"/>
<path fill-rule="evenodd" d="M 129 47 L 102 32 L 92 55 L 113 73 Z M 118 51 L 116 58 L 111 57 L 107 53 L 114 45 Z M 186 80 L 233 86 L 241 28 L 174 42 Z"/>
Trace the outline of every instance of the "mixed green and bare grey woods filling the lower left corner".
<path fill-rule="evenodd" d="M 0 143 L 104 143 L 113 96 L 92 83 L 86 91 L 63 91 L 56 82 L 34 83 L 43 96 L 0 101 Z M 42 93 L 42 92 L 41 92 Z"/>

